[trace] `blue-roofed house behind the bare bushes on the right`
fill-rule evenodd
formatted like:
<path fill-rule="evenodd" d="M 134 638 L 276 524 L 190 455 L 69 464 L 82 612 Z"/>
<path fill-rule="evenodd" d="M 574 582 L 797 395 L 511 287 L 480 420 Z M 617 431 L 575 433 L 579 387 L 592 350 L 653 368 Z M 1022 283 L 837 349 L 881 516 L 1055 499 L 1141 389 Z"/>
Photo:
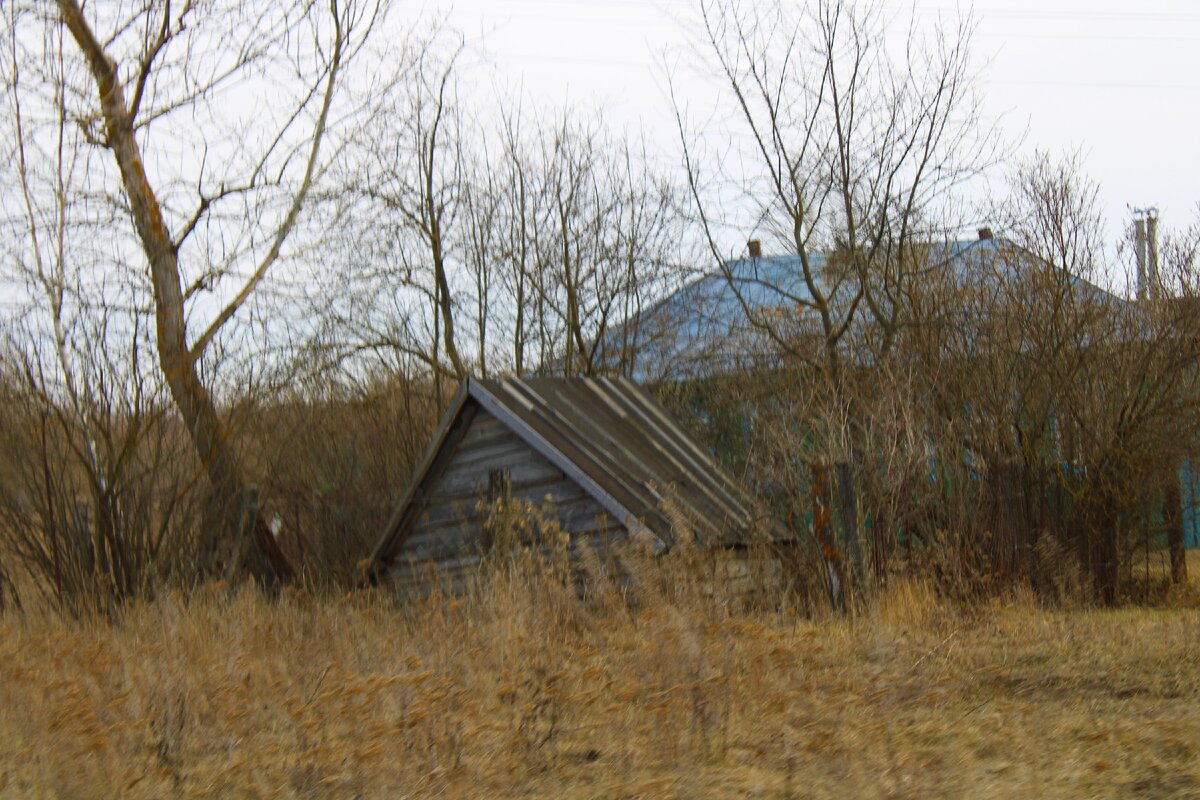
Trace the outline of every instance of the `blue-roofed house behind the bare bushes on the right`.
<path fill-rule="evenodd" d="M 1088 279 L 1096 264 L 1069 234 L 1062 252 L 1042 243 L 1045 257 L 982 229 L 802 260 L 750 242 L 604 349 L 611 368 L 656 381 L 793 528 L 841 510 L 824 549 L 862 537 L 882 575 L 889 552 L 956 531 L 983 551 L 965 572 L 1039 576 L 1046 539 L 1111 594 L 1130 553 L 1148 563 L 1153 545 L 1196 541 L 1192 450 L 1171 433 L 1198 402 L 1194 324 Z M 834 464 L 838 486 L 810 480 Z"/>

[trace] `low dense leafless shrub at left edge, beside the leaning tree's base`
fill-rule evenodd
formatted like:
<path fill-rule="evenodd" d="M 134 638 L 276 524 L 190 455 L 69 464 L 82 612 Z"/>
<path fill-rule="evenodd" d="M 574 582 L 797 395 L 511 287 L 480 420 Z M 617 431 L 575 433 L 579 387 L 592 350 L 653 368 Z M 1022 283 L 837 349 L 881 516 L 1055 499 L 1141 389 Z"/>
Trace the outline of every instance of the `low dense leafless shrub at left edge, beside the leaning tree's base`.
<path fill-rule="evenodd" d="M 192 579 L 205 495 L 185 434 L 139 344 L 110 335 L 60 363 L 12 345 L 4 380 L 0 552 L 36 594 L 71 613 L 110 612 Z M 78 342 L 76 343 L 79 344 Z M 121 347 L 130 348 L 121 354 Z M 64 391 L 65 369 L 79 381 Z"/>

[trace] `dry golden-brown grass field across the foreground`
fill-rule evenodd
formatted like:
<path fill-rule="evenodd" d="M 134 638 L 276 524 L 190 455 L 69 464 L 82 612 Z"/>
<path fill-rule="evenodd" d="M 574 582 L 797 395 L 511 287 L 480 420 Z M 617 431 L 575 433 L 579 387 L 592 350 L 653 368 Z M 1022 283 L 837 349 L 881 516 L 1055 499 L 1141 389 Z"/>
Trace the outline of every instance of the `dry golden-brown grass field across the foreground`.
<path fill-rule="evenodd" d="M 0 796 L 1200 796 L 1195 610 L 650 600 L 498 578 L 408 612 L 214 588 L 8 616 Z"/>

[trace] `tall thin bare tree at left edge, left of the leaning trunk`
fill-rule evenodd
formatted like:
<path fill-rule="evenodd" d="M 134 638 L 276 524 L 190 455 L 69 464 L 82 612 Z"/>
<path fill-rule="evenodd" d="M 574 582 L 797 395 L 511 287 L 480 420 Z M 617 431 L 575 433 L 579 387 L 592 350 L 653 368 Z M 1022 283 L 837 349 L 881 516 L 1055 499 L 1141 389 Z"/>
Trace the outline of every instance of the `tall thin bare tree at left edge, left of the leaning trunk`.
<path fill-rule="evenodd" d="M 176 512 L 193 464 L 146 357 L 149 297 L 110 263 L 120 235 L 102 235 L 116 209 L 68 104 L 65 31 L 38 40 L 40 20 L 10 11 L 0 73 L 13 136 L 0 169 L 17 191 L 0 205 L 13 302 L 0 361 L 13 397 L 0 428 L 24 457 L 0 479 L 0 546 L 60 608 L 107 608 L 192 563 Z"/>

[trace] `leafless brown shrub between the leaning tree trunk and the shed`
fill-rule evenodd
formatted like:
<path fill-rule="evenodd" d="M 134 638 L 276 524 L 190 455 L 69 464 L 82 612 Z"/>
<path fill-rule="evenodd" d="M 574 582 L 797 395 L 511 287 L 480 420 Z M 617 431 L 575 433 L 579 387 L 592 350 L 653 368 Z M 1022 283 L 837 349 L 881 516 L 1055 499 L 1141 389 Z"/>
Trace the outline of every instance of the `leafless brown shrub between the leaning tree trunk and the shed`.
<path fill-rule="evenodd" d="M 305 582 L 359 579 L 444 402 L 427 377 L 329 371 L 230 413 L 263 516 Z"/>

